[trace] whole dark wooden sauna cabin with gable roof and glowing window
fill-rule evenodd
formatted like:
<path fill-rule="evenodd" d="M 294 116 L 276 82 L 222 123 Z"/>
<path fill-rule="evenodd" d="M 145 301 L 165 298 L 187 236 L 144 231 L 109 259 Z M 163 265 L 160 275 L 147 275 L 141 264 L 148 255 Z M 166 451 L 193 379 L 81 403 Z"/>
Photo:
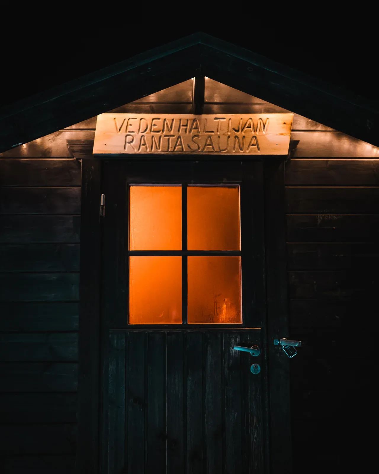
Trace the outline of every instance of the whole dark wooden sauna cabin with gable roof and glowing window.
<path fill-rule="evenodd" d="M 194 35 L 0 123 L 1 472 L 365 471 L 377 110 Z"/>

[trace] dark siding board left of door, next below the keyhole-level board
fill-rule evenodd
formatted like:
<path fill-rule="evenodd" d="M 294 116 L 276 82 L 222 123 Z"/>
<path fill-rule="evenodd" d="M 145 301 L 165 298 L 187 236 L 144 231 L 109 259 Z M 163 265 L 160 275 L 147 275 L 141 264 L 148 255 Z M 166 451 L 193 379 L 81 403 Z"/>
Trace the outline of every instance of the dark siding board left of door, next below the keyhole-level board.
<path fill-rule="evenodd" d="M 76 423 L 76 393 L 0 393 L 1 423 Z"/>

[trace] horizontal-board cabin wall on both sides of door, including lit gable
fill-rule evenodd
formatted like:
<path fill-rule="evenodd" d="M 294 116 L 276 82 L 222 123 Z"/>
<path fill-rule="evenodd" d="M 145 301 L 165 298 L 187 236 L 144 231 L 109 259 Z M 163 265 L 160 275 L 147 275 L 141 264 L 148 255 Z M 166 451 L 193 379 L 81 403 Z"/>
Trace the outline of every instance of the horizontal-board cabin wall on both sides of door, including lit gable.
<path fill-rule="evenodd" d="M 188 113 L 190 83 L 118 111 Z M 284 110 L 206 80 L 205 113 L 261 111 Z M 81 164 L 66 140 L 93 138 L 95 125 L 89 118 L 0 155 L 0 472 L 74 469 Z M 294 473 L 303 474 L 352 463 L 344 453 L 354 448 L 357 459 L 368 443 L 379 160 L 364 158 L 379 150 L 296 115 L 292 138 L 290 335 L 308 346 L 290 362 L 291 410 Z"/>

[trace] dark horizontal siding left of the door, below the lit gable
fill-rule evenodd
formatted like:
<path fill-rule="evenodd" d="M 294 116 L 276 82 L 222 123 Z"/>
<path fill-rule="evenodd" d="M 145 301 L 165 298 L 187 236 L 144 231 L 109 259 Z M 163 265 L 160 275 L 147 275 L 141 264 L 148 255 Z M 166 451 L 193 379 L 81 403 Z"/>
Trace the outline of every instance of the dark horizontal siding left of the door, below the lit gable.
<path fill-rule="evenodd" d="M 4 472 L 74 470 L 80 184 L 74 159 L 0 159 Z"/>

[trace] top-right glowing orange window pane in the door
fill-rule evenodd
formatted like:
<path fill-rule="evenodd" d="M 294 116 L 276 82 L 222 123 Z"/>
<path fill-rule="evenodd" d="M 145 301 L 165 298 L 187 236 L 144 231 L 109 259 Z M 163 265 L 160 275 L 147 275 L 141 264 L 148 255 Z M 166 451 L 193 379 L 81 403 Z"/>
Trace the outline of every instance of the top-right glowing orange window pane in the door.
<path fill-rule="evenodd" d="M 239 186 L 189 186 L 188 249 L 240 250 Z"/>

